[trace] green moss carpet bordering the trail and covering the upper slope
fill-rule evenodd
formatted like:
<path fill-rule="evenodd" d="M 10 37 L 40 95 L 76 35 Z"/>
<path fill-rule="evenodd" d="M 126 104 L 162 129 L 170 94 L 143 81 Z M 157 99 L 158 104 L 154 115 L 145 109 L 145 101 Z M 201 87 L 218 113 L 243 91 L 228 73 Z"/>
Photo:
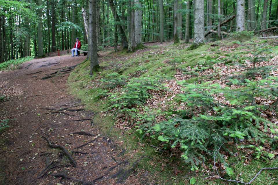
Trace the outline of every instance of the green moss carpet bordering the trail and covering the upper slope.
<path fill-rule="evenodd" d="M 272 51 L 268 51 L 269 55 L 276 56 L 278 49 L 271 47 L 275 40 L 269 40 L 268 43 Z M 211 46 L 211 45 L 219 46 Z M 115 53 L 105 54 L 99 58 L 100 70 L 95 72 L 93 76 L 89 75 L 89 60 L 85 60 L 78 65 L 71 73 L 68 79 L 69 91 L 76 95 L 77 99 L 81 99 L 86 105 L 86 109 L 94 112 L 105 112 L 108 110 L 109 102 L 106 99 L 99 99 L 98 90 L 101 86 L 98 85 L 98 79 L 106 75 L 117 72 L 120 75 L 127 77 L 151 77 L 155 75 L 165 75 L 173 78 L 176 74 L 174 69 L 184 69 L 188 66 L 193 68 L 200 61 L 212 60 L 213 62 L 226 62 L 226 64 L 241 62 L 248 58 L 249 50 L 244 46 L 234 44 L 232 41 L 216 41 L 208 43 L 195 50 L 188 51 L 186 48 L 189 44 L 181 43 L 179 45 L 154 44 L 150 47 L 129 53 L 127 50 Z M 226 47 L 226 49 L 225 49 Z M 221 69 L 220 69 L 221 70 Z M 197 77 L 186 79 L 187 83 L 194 83 Z M 175 103 L 180 102 L 180 97 L 175 97 L 169 101 L 169 107 L 173 107 Z M 148 184 L 190 184 L 191 177 L 196 178 L 195 184 L 237 184 L 235 182 L 226 182 L 220 179 L 204 179 L 216 173 L 213 170 L 211 163 L 204 162 L 204 166 L 209 169 L 204 169 L 201 165 L 199 170 L 191 171 L 190 165 L 185 164 L 180 156 L 171 156 L 171 151 L 159 146 L 160 142 L 154 138 L 144 138 L 140 140 L 141 135 L 136 132 L 136 129 L 120 129 L 115 126 L 115 118 L 117 114 L 107 112 L 106 114 L 98 114 L 94 117 L 96 127 L 99 127 L 101 132 L 107 133 L 112 127 L 112 132 L 109 132 L 110 138 L 113 138 L 115 143 L 119 143 L 121 148 L 126 149 L 126 157 L 131 161 L 135 161 L 140 156 L 148 156 L 153 158 L 143 158 L 138 163 L 139 171 L 147 171 Z M 156 149 L 153 146 L 158 146 Z M 162 151 L 166 150 L 166 151 Z M 224 175 L 226 179 L 237 179 L 248 182 L 259 169 L 264 167 L 273 167 L 278 162 L 277 159 L 254 159 L 244 160 L 241 157 L 245 155 L 241 151 L 237 151 L 236 147 L 231 147 L 232 152 L 237 152 L 234 156 L 229 156 L 227 163 L 230 164 L 234 174 Z M 212 160 L 212 159 L 211 159 Z M 144 177 L 145 178 L 145 177 Z M 260 175 L 252 182 L 252 184 L 278 184 L 278 170 L 262 171 Z"/>

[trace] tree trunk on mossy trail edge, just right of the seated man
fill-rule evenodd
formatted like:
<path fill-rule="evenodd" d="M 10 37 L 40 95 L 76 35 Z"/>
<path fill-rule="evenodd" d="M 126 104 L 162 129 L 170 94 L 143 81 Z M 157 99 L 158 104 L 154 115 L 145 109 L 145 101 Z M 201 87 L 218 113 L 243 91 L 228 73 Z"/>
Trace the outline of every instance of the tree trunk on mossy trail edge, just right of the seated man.
<path fill-rule="evenodd" d="M 89 44 L 88 51 L 90 57 L 90 75 L 99 68 L 98 64 L 98 46 L 96 43 L 96 19 L 97 19 L 96 0 L 89 0 Z"/>

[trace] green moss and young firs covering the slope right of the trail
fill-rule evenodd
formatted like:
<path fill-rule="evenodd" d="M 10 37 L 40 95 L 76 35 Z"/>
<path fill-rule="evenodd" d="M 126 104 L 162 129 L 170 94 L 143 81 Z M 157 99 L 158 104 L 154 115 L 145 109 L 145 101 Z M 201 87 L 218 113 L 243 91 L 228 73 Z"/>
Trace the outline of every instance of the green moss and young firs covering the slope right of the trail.
<path fill-rule="evenodd" d="M 219 46 L 212 47 L 212 44 Z M 204 84 L 202 80 L 200 81 L 200 76 L 194 76 L 191 71 L 186 71 L 186 67 L 191 66 L 191 69 L 195 70 L 194 73 L 200 74 L 202 70 L 211 67 L 216 62 L 225 62 L 225 65 L 233 66 L 250 59 L 247 56 L 250 51 L 246 51 L 248 47 L 242 45 L 231 49 L 232 52 L 230 53 L 220 49 L 220 46 L 224 44 L 226 45 L 227 43 L 216 41 L 192 51 L 186 50 L 189 44 L 182 43 L 178 46 L 168 45 L 165 48 L 154 46 L 150 47 L 149 51 L 133 55 L 133 57 L 130 57 L 132 53 L 122 50 L 107 56 L 107 60 L 100 63 L 100 71 L 94 73 L 93 76 L 89 75 L 89 61 L 85 60 L 69 76 L 70 92 L 76 95 L 76 98 L 82 100 L 83 104 L 86 105 L 86 109 L 98 113 L 105 112 L 104 116 L 95 116 L 94 127 L 98 127 L 103 134 L 109 132 L 112 127 L 108 137 L 115 143 L 122 143 L 122 145 L 118 145 L 118 150 L 127 150 L 125 154 L 130 154 L 127 155 L 129 156 L 130 165 L 142 155 L 153 158 L 153 160 L 143 158 L 138 163 L 139 169 L 148 171 L 148 176 L 152 177 L 151 181 L 156 180 L 158 184 L 181 185 L 190 184 L 189 179 L 195 177 L 195 184 L 236 184 L 234 182 L 224 182 L 220 179 L 213 181 L 204 179 L 204 177 L 212 175 L 209 172 L 217 175 L 216 171 L 213 170 L 212 162 L 215 156 L 215 160 L 225 166 L 224 169 L 223 167 L 219 169 L 220 171 L 226 170 L 224 174 L 221 174 L 223 178 L 234 180 L 242 178 L 242 181 L 248 182 L 260 168 L 273 167 L 277 164 L 277 160 L 272 159 L 273 155 L 268 152 L 264 153 L 264 150 L 257 146 L 268 142 L 270 147 L 274 148 L 275 145 L 273 143 L 276 141 L 275 138 L 273 140 L 265 140 L 265 133 L 257 129 L 257 127 L 266 129 L 268 124 L 271 124 L 268 121 L 262 121 L 259 110 L 266 107 L 254 105 L 253 99 L 255 95 L 252 94 L 252 88 L 253 92 L 255 90 L 255 94 L 257 93 L 256 95 L 258 96 L 267 94 L 274 97 L 277 89 L 275 89 L 275 86 L 271 86 L 274 90 L 263 89 L 264 83 L 271 85 L 269 81 L 262 80 L 256 84 L 253 80 L 248 81 L 246 79 L 244 81 L 242 77 L 241 80 L 231 79 L 230 81 L 230 83 L 242 86 L 237 91 L 229 91 L 219 86 L 216 87 L 216 85 L 208 87 L 209 84 Z M 229 44 L 233 45 L 233 42 L 231 41 Z M 272 53 L 275 52 L 277 51 L 272 51 Z M 109 60 L 113 55 L 121 57 L 114 58 L 113 61 Z M 215 60 L 219 56 L 225 57 Z M 128 59 L 124 60 L 123 58 Z M 183 73 L 192 73 L 192 77 L 185 79 L 181 83 L 186 93 L 169 101 L 169 109 L 173 108 L 177 103 L 191 102 L 191 107 L 189 105 L 187 111 L 190 112 L 192 109 L 191 112 L 194 112 L 196 106 L 194 101 L 198 100 L 199 103 L 201 102 L 197 105 L 199 107 L 198 110 L 208 109 L 210 112 L 216 112 L 213 113 L 215 117 L 206 115 L 206 111 L 200 111 L 199 116 L 194 116 L 194 114 L 192 115 L 188 112 L 171 110 L 169 112 L 159 112 L 142 107 L 147 98 L 151 97 L 150 91 L 158 91 L 158 94 L 161 93 L 161 96 L 164 96 L 163 93 L 165 91 L 162 88 L 162 81 L 173 78 L 177 73 L 176 69 L 180 69 Z M 213 78 L 213 76 L 209 77 Z M 204 78 L 207 78 L 207 76 L 204 76 Z M 192 85 L 197 81 L 198 84 L 196 86 Z M 200 82 L 201 84 L 199 84 Z M 194 92 L 198 88 L 200 88 L 200 92 Z M 202 89 L 209 89 L 209 91 Z M 239 107 L 233 108 L 226 105 L 219 107 L 217 105 L 218 102 L 213 100 L 212 95 L 213 93 L 222 92 L 226 93 L 227 100 L 231 104 L 234 103 Z M 217 109 L 214 107 L 217 107 Z M 145 113 L 140 113 L 138 112 L 139 110 L 144 110 Z M 114 127 L 115 119 L 120 114 L 129 117 L 129 123 L 134 117 L 137 117 L 139 124 L 132 124 L 139 127 L 131 129 Z M 171 124 L 169 123 L 170 119 L 168 119 L 168 122 L 164 122 L 165 124 L 162 122 L 157 123 L 154 118 L 159 114 L 163 114 L 167 118 L 168 116 L 173 118 L 171 115 L 175 114 L 180 116 L 181 120 L 174 118 L 175 120 Z M 203 114 L 203 116 L 200 114 Z M 182 140 L 184 137 L 182 134 L 188 134 L 186 132 L 186 124 L 190 123 L 188 120 L 191 120 L 194 123 L 193 125 L 198 128 L 194 133 L 197 136 L 193 134 L 191 139 Z M 198 124 L 195 124 L 197 122 Z M 237 123 L 240 124 L 237 125 Z M 252 124 L 248 127 L 250 123 Z M 172 130 L 165 129 L 167 124 L 171 125 Z M 156 126 L 153 127 L 154 125 Z M 189 126 L 192 125 L 189 124 Z M 185 132 L 181 133 L 183 129 L 185 129 Z M 254 137 L 256 143 L 258 143 L 256 146 L 243 147 L 239 142 L 239 139 L 252 140 Z M 233 144 L 227 144 L 228 141 L 233 141 Z M 201 146 L 204 143 L 206 143 L 206 147 Z M 225 143 L 225 145 L 222 145 L 222 143 Z M 161 150 L 150 145 L 158 146 Z M 177 145 L 179 145 L 178 150 L 181 152 L 172 156 L 171 148 L 175 149 Z M 235 145 L 239 146 L 239 148 Z M 220 147 L 224 148 L 221 150 L 222 153 L 217 152 Z M 251 150 L 255 151 L 255 153 L 251 158 L 248 158 L 246 151 Z M 202 151 L 211 153 L 209 155 L 210 158 L 200 155 Z M 256 155 L 262 155 L 262 157 L 255 159 Z M 186 162 L 189 162 L 189 164 Z M 207 172 L 208 169 L 209 172 Z M 277 170 L 262 171 L 252 184 L 277 184 L 277 178 Z"/>

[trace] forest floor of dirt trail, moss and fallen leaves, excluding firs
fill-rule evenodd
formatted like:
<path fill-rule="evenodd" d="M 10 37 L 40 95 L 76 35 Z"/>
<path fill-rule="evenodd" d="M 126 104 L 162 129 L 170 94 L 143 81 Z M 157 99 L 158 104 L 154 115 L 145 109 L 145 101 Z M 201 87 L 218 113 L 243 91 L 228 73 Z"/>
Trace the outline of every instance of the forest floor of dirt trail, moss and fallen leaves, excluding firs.
<path fill-rule="evenodd" d="M 270 40 L 268 44 L 276 48 L 263 53 L 262 56 L 269 58 L 260 62 L 258 66 L 278 65 L 277 40 Z M 169 144 L 147 137 L 148 134 L 140 140 L 142 134 L 139 134 L 134 126 L 140 121 L 142 123 L 144 116 L 147 116 L 147 119 L 153 116 L 153 123 L 158 123 L 166 120 L 166 116 L 178 115 L 179 111 L 186 109 L 179 97 L 179 94 L 184 92 L 178 81 L 195 83 L 210 80 L 226 86 L 229 76 L 242 74 L 246 67 L 252 65 L 252 51 L 231 40 L 207 43 L 193 51 L 186 51 L 189 44 L 185 43 L 148 43 L 145 46 L 147 47 L 135 53 L 128 53 L 127 50 L 115 53 L 112 48 L 101 52 L 100 69 L 93 76 L 89 75 L 89 61 L 86 57 L 54 56 L 57 53 L 52 53 L 51 57 L 25 62 L 18 70 L 1 72 L 0 93 L 9 97 L 0 104 L 1 119 L 10 119 L 10 127 L 3 130 L 0 136 L 0 183 L 72 185 L 83 182 L 86 184 L 84 180 L 87 180 L 100 185 L 116 184 L 117 181 L 127 185 L 184 185 L 190 184 L 191 177 L 195 177 L 195 184 L 198 185 L 236 184 L 213 177 L 204 179 L 216 175 L 211 158 L 203 161 L 203 164 L 199 165 L 200 169 L 191 171 L 191 166 L 181 160 L 182 151 L 178 146 L 169 148 Z M 201 69 L 204 61 L 213 63 L 213 67 L 205 68 L 196 75 L 193 70 Z M 245 66 L 238 66 L 238 62 Z M 232 65 L 227 65 L 230 63 Z M 75 64 L 80 65 L 70 73 L 41 80 L 42 77 L 57 71 L 57 68 Z M 109 96 L 102 96 L 107 90 L 105 85 L 109 83 L 99 81 L 109 79 L 107 76 L 113 73 L 123 75 L 127 79 L 143 81 L 147 77 L 164 75 L 159 78 L 169 77 L 164 84 L 167 90 L 149 90 L 151 97 L 143 106 L 137 106 L 139 112 L 135 117 L 115 113 L 115 108 L 109 108 Z M 277 70 L 271 74 L 277 76 Z M 260 75 L 256 78 L 261 79 Z M 116 80 L 120 82 L 119 78 Z M 115 95 L 120 95 L 123 91 L 119 85 L 109 90 Z M 273 103 L 268 99 L 257 99 L 257 102 Z M 273 111 L 270 114 L 265 111 L 263 116 L 278 124 L 275 115 L 277 112 Z M 80 119 L 87 120 L 77 121 Z M 83 133 L 71 134 L 76 131 Z M 270 132 L 267 134 L 270 135 Z M 77 166 L 74 166 L 74 162 L 68 156 L 63 155 L 62 150 L 48 146 L 44 137 L 54 142 L 54 146 L 64 146 Z M 92 143 L 76 148 L 90 141 Z M 274 151 L 268 144 L 264 145 L 264 150 L 275 153 L 274 159 L 254 160 L 249 155 L 254 151 L 237 149 L 236 146 L 239 144 L 256 145 L 256 142 L 244 140 L 241 143 L 233 141 L 226 144 L 235 155 L 221 152 L 225 154 L 225 159 L 231 165 L 234 174 L 228 176 L 223 166 L 217 164 L 224 177 L 242 177 L 244 182 L 247 182 L 260 168 L 278 164 L 278 150 Z M 54 168 L 51 169 L 52 167 Z M 43 177 L 38 178 L 44 173 Z M 69 180 L 59 175 L 56 175 L 58 178 L 54 178 L 51 176 L 53 174 L 66 174 L 74 179 Z M 277 179 L 277 170 L 263 171 L 253 184 L 278 184 Z M 78 180 L 83 181 L 80 183 Z"/>

